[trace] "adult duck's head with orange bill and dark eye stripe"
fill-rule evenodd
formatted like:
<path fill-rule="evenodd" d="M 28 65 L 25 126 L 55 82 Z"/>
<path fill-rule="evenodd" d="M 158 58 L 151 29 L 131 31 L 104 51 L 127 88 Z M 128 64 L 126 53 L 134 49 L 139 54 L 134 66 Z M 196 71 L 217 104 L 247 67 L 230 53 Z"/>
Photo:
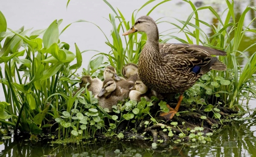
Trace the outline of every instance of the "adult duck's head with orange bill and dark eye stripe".
<path fill-rule="evenodd" d="M 150 16 L 141 16 L 138 18 L 134 25 L 127 32 L 123 33 L 123 35 L 128 35 L 134 32 L 145 32 L 147 35 L 152 32 L 157 32 L 158 29 L 156 26 L 156 22 Z"/>

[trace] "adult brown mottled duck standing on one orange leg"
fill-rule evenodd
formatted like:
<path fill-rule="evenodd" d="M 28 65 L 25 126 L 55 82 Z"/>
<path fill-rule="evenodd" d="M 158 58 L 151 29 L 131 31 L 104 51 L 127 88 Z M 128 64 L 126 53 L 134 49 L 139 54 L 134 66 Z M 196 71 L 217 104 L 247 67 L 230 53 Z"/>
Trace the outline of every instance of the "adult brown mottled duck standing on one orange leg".
<path fill-rule="evenodd" d="M 147 42 L 139 58 L 138 74 L 142 82 L 156 92 L 180 93 L 178 104 L 169 113 L 161 113 L 169 121 L 177 113 L 183 92 L 195 84 L 211 69 L 226 70 L 227 66 L 211 55 L 225 56 L 226 52 L 193 44 L 159 44 L 156 22 L 149 16 L 136 20 L 123 35 L 137 31 L 145 32 Z"/>

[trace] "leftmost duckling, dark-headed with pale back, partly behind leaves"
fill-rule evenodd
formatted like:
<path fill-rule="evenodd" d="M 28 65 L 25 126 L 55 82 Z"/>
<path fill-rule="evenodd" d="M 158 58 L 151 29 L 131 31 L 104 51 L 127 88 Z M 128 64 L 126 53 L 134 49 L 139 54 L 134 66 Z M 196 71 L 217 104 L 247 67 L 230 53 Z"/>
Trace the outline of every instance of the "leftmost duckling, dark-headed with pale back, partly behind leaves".
<path fill-rule="evenodd" d="M 91 76 L 87 76 L 87 75 L 82 76 L 80 80 L 82 81 L 81 83 L 79 83 L 80 88 L 82 87 L 85 88 L 86 84 L 89 82 L 90 84 L 87 86 L 87 90 L 91 91 L 91 93 L 95 96 L 100 92 L 101 87 L 103 85 L 103 82 L 100 79 L 98 78 L 93 79 L 91 78 Z"/>

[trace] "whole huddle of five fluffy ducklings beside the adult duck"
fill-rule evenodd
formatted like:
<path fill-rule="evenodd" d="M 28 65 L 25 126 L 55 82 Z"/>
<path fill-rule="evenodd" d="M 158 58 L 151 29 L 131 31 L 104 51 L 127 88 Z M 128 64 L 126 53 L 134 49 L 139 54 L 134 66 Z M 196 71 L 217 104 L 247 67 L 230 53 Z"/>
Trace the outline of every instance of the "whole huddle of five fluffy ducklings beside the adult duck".
<path fill-rule="evenodd" d="M 139 79 L 138 66 L 133 63 L 128 63 L 123 67 L 123 77 L 116 74 L 116 69 L 113 66 L 107 66 L 104 69 L 104 81 L 91 76 L 82 76 L 80 88 L 86 87 L 92 94 L 99 99 L 99 106 L 108 108 L 113 111 L 112 106 L 118 101 L 124 101 L 129 97 L 130 100 L 137 102 L 144 97 L 147 101 L 151 101 L 151 96 L 158 96 L 153 90 L 149 90 L 146 85 Z"/>

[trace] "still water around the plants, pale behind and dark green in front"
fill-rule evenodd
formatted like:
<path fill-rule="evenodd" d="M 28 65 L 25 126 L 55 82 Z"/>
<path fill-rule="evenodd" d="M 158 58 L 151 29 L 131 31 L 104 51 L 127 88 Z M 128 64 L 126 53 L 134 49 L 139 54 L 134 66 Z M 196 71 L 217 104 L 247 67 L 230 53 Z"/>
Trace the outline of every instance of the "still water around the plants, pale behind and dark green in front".
<path fill-rule="evenodd" d="M 196 3 L 197 0 L 191 0 Z M 125 17 L 131 17 L 133 10 L 142 6 L 146 0 L 130 0 L 119 1 L 109 0 L 109 2 L 124 14 Z M 159 2 L 159 1 L 158 1 Z M 222 13 L 226 9 L 224 0 L 204 0 L 203 5 L 211 5 L 218 13 Z M 156 4 L 156 3 L 155 3 Z M 250 4 L 255 6 L 255 0 L 235 0 L 236 17 L 239 17 L 244 8 Z M 25 28 L 33 30 L 47 28 L 54 19 L 63 18 L 60 26 L 63 29 L 69 23 L 78 19 L 84 19 L 98 24 L 107 36 L 110 36 L 112 29 L 110 23 L 102 17 L 108 17 L 112 11 L 101 0 L 70 1 L 68 10 L 66 10 L 66 1 L 63 0 L 1 0 L 0 10 L 5 15 L 8 27 L 15 30 L 25 25 Z M 198 3 L 201 5 L 201 3 Z M 138 15 L 145 15 L 154 5 L 149 5 L 143 9 Z M 190 6 L 181 0 L 173 0 L 165 5 L 160 5 L 151 13 L 154 19 L 163 16 L 171 16 L 186 20 L 192 12 Z M 245 18 L 245 25 L 255 17 L 255 12 L 248 13 Z M 210 12 L 199 13 L 200 19 L 213 23 L 214 19 Z M 130 18 L 128 18 L 130 19 Z M 167 18 L 166 20 L 174 22 L 174 19 Z M 256 28 L 256 23 L 252 26 Z M 159 32 L 171 29 L 170 25 L 159 24 Z M 201 25 L 201 29 L 208 34 L 211 34 L 207 27 Z M 175 34 L 178 37 L 185 38 L 181 33 Z M 102 33 L 94 26 L 88 23 L 75 23 L 70 26 L 60 36 L 60 40 L 71 45 L 70 50 L 75 51 L 73 44 L 76 43 L 80 50 L 96 49 L 101 52 L 109 52 L 109 47 L 104 44 L 105 38 Z M 246 34 L 241 43 L 240 49 L 243 50 L 248 45 L 256 42 L 256 36 Z M 170 40 L 169 43 L 177 43 Z M 255 47 L 246 52 L 247 56 L 251 56 L 255 52 Z M 83 67 L 87 64 L 94 52 L 83 53 Z M 246 62 L 243 58 L 239 58 L 240 64 Z M 2 65 L 1 65 L 2 66 Z M 79 71 L 81 74 L 82 68 Z M 2 90 L 2 89 L 1 89 Z M 0 90 L 0 93 L 2 91 Z M 0 100 L 4 101 L 4 97 L 0 96 Z M 256 101 L 252 100 L 249 104 L 251 109 L 256 108 Z M 81 144 L 54 144 L 51 146 L 45 141 L 30 141 L 26 137 L 18 139 L 0 139 L 0 157 L 41 157 L 41 156 L 58 156 L 58 157 L 112 157 L 112 156 L 218 156 L 218 157 L 256 157 L 256 111 L 244 115 L 243 117 L 252 116 L 253 119 L 246 121 L 234 121 L 230 125 L 224 126 L 217 130 L 212 137 L 212 142 L 202 145 L 193 143 L 169 143 L 162 144 L 156 149 L 151 148 L 152 141 L 141 141 L 134 139 L 89 139 Z M 23 139 L 24 138 L 24 139 Z M 120 153 L 117 153 L 119 152 Z M 115 153 L 116 152 L 116 153 Z"/>

